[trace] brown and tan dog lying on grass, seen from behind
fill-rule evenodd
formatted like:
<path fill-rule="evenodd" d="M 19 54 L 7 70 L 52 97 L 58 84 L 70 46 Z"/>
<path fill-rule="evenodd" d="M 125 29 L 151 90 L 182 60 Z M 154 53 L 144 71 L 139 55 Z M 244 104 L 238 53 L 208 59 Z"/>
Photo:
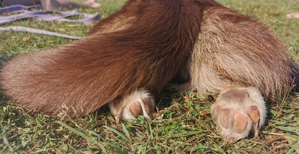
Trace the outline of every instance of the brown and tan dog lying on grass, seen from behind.
<path fill-rule="evenodd" d="M 29 109 L 80 117 L 109 104 L 117 121 L 149 119 L 153 96 L 181 83 L 218 95 L 211 115 L 233 143 L 258 135 L 264 98 L 287 93 L 298 70 L 264 25 L 214 0 L 129 0 L 85 39 L 15 57 L 0 82 Z"/>

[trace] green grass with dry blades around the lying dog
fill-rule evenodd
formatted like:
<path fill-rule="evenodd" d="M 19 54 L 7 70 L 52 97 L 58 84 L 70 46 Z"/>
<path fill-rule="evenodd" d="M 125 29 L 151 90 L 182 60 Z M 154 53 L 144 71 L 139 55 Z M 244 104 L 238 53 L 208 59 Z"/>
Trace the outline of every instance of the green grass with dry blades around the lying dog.
<path fill-rule="evenodd" d="M 125 0 L 98 0 L 103 18 L 119 10 Z M 298 62 L 299 20 L 285 14 L 299 10 L 299 0 L 219 0 L 270 27 Z M 67 22 L 14 21 L 0 26 L 28 26 L 84 36 L 92 25 Z M 24 52 L 55 47 L 71 40 L 13 31 L 0 31 L 0 65 Z M 108 108 L 84 119 L 59 120 L 7 103 L 0 98 L 0 153 L 25 154 L 296 154 L 299 153 L 299 95 L 290 94 L 268 105 L 268 125 L 262 136 L 225 143 L 216 132 L 209 108 L 213 98 L 196 93 L 165 94 L 156 99 L 157 113 L 149 120 L 115 123 Z"/>

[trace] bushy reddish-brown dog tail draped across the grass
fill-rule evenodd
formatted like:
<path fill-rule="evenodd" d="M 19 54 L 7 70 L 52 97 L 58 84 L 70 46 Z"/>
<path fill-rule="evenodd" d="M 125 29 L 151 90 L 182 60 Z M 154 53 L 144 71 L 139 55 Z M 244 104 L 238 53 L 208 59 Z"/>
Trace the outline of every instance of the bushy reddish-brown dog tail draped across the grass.
<path fill-rule="evenodd" d="M 2 69 L 1 88 L 27 108 L 56 114 L 64 105 L 72 117 L 137 88 L 159 93 L 191 56 L 207 7 L 194 0 L 142 0 L 127 29 L 15 57 Z"/>

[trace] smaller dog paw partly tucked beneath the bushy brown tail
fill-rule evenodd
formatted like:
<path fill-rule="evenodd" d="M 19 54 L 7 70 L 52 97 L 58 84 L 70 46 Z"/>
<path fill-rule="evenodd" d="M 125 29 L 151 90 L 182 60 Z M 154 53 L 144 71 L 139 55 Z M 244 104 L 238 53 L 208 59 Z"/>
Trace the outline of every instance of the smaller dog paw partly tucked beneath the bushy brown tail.
<path fill-rule="evenodd" d="M 141 89 L 125 97 L 117 97 L 109 103 L 117 123 L 122 119 L 136 120 L 143 115 L 145 120 L 153 116 L 154 100 L 148 91 Z"/>

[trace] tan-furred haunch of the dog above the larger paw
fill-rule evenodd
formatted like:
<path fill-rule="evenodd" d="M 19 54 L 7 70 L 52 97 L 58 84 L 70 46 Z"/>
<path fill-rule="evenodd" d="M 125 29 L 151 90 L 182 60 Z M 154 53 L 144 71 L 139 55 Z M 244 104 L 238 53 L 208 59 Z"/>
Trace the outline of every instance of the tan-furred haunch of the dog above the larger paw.
<path fill-rule="evenodd" d="M 298 80 L 298 66 L 262 24 L 228 8 L 203 12 L 192 54 L 190 85 L 199 94 L 228 86 L 253 86 L 269 97 L 282 96 Z M 198 60 L 200 59 L 200 60 Z"/>

